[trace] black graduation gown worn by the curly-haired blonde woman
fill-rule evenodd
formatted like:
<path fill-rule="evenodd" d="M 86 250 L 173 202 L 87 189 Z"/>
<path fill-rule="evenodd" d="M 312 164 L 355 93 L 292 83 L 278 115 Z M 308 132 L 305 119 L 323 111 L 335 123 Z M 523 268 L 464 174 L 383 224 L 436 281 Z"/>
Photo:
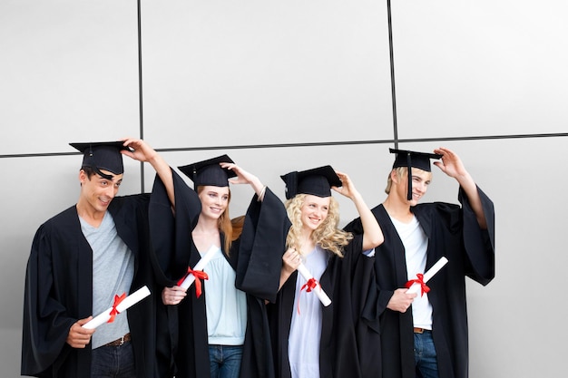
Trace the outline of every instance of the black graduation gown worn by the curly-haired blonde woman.
<path fill-rule="evenodd" d="M 380 342 L 375 311 L 374 258 L 362 251 L 357 236 L 344 250 L 344 257 L 328 252 L 328 267 L 319 283 L 331 299 L 322 305 L 319 371 L 321 378 L 380 378 Z M 275 304 L 269 304 L 269 324 L 276 376 L 291 377 L 288 336 L 294 304 L 294 272 L 279 291 Z M 309 295 L 309 294 L 306 294 Z"/>

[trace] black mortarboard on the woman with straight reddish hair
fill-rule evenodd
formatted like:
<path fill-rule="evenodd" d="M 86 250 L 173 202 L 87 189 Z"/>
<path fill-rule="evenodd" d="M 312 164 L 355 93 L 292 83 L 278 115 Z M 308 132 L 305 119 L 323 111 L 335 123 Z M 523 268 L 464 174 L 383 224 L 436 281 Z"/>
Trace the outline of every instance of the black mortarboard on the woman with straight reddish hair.
<path fill-rule="evenodd" d="M 232 170 L 221 168 L 219 163 L 234 163 L 227 155 L 218 156 L 217 158 L 199 161 L 193 164 L 178 167 L 194 184 L 194 188 L 203 185 L 211 185 L 213 187 L 228 187 L 229 179 L 237 176 Z"/>

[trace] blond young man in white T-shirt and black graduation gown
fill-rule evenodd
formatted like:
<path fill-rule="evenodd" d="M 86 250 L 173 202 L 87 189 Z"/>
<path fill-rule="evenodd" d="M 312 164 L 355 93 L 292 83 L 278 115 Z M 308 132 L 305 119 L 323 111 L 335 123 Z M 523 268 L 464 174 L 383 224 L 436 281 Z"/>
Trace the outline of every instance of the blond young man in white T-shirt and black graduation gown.
<path fill-rule="evenodd" d="M 484 286 L 495 276 L 493 202 L 452 150 L 391 152 L 387 199 L 372 209 L 385 235 L 375 253 L 383 377 L 466 378 L 465 276 Z M 459 183 L 461 206 L 418 203 L 432 179 L 431 159 Z M 359 219 L 346 230 L 359 232 Z M 427 288 L 406 293 L 408 281 L 441 257 L 449 262 Z"/>

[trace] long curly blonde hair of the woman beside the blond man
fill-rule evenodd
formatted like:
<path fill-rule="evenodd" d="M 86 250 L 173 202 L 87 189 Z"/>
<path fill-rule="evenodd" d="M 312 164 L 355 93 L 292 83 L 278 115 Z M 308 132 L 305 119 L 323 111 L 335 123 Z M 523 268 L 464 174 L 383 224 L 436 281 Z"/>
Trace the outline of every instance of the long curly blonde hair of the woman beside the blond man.
<path fill-rule="evenodd" d="M 292 223 L 286 237 L 286 247 L 294 247 L 301 251 L 300 235 L 303 227 L 301 220 L 302 206 L 306 199 L 306 194 L 298 194 L 286 201 L 286 211 Z M 328 217 L 312 232 L 311 239 L 316 245 L 327 249 L 338 257 L 343 257 L 343 247 L 349 244 L 353 234 L 338 228 L 339 223 L 339 204 L 333 197 L 329 198 Z"/>

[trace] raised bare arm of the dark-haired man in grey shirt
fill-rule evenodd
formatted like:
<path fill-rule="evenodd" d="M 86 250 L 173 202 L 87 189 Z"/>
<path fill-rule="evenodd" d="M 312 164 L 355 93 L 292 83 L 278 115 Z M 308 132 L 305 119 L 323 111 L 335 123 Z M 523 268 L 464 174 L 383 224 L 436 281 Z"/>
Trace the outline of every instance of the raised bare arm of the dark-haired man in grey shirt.
<path fill-rule="evenodd" d="M 133 160 L 146 161 L 152 165 L 168 193 L 168 198 L 171 202 L 171 207 L 175 207 L 175 195 L 173 190 L 173 177 L 171 175 L 171 168 L 168 163 L 163 160 L 162 156 L 150 147 L 148 143 L 141 139 L 124 138 L 124 146 L 132 149 L 122 150 L 122 154 L 132 158 Z"/>

